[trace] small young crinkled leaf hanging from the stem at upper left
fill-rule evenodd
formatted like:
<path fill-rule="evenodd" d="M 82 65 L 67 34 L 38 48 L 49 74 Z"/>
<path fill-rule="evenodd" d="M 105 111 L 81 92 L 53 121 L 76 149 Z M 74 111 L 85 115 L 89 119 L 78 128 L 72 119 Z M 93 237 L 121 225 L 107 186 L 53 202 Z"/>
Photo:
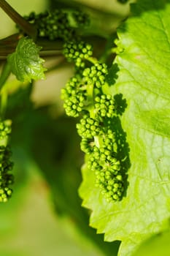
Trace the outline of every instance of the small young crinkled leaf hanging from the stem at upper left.
<path fill-rule="evenodd" d="M 21 82 L 31 81 L 31 79 L 45 79 L 45 62 L 39 57 L 39 50 L 33 39 L 22 37 L 17 45 L 15 53 L 8 56 L 7 61 L 10 64 L 12 73 Z"/>

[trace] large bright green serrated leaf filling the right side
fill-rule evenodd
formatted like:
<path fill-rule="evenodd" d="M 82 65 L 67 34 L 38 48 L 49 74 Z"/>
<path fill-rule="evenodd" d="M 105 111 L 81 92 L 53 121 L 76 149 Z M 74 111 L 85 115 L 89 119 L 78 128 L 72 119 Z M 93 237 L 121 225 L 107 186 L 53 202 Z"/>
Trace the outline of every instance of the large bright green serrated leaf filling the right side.
<path fill-rule="evenodd" d="M 132 255 L 146 238 L 169 226 L 170 213 L 170 4 L 139 0 L 118 29 L 112 94 L 123 94 L 120 117 L 130 148 L 131 167 L 123 200 L 107 203 L 95 177 L 84 165 L 82 206 L 90 208 L 90 225 L 106 241 L 120 240 L 119 255 Z M 114 75 L 114 74 L 113 74 Z"/>

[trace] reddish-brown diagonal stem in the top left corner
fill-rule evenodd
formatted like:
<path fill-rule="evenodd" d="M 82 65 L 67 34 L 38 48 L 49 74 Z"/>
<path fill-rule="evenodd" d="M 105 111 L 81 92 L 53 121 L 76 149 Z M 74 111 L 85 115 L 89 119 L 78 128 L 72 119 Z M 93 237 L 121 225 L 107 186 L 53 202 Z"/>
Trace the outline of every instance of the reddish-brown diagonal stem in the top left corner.
<path fill-rule="evenodd" d="M 5 0 L 0 0 L 0 7 L 7 15 L 18 24 L 28 36 L 32 37 L 34 40 L 36 39 L 36 28 L 28 23 L 18 12 L 16 12 Z"/>

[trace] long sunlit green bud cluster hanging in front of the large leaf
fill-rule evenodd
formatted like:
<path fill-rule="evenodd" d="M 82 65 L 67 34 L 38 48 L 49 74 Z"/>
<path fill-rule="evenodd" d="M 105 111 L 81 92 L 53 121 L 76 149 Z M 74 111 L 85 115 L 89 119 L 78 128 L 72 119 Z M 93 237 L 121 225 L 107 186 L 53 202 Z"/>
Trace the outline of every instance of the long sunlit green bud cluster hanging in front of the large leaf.
<path fill-rule="evenodd" d="M 61 91 L 63 107 L 68 116 L 82 116 L 77 132 L 82 138 L 80 147 L 88 155 L 88 168 L 95 173 L 96 187 L 108 202 L 120 200 L 124 191 L 123 171 L 117 159 L 114 127 L 110 125 L 117 111 L 115 99 L 103 92 L 107 65 L 91 57 L 92 48 L 85 42 L 68 42 L 63 53 L 74 62 L 79 74 L 78 79 L 71 78 Z M 85 59 L 88 67 L 85 67 Z"/>

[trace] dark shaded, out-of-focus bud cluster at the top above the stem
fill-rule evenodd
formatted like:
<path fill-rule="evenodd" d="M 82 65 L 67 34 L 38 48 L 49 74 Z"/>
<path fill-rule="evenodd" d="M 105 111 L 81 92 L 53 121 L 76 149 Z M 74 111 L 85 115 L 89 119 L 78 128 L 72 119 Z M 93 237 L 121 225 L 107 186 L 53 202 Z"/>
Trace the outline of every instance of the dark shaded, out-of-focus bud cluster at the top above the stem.
<path fill-rule="evenodd" d="M 64 42 L 69 42 L 69 39 L 75 37 L 77 28 L 82 29 L 82 27 L 90 24 L 88 15 L 78 10 L 69 10 L 68 12 L 60 9 L 39 14 L 31 12 L 24 18 L 36 26 L 38 37 L 45 37 L 50 40 L 59 38 L 63 39 Z"/>

